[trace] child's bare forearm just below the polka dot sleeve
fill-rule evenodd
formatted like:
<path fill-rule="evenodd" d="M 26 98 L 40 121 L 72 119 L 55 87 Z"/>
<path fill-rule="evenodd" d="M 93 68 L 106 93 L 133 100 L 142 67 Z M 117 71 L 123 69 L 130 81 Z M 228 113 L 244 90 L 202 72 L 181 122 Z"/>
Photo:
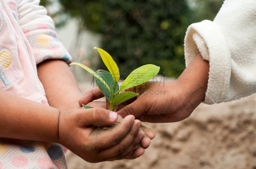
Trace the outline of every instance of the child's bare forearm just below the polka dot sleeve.
<path fill-rule="evenodd" d="M 67 63 L 46 60 L 37 65 L 37 73 L 50 106 L 63 110 L 79 108 L 78 100 L 83 95 Z"/>

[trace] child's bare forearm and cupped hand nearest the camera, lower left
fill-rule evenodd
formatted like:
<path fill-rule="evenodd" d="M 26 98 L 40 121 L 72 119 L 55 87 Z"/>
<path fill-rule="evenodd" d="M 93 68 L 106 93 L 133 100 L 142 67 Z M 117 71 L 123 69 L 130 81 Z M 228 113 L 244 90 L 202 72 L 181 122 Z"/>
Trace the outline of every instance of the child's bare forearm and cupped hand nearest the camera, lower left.
<path fill-rule="evenodd" d="M 134 151 L 144 137 L 134 116 L 105 134 L 92 134 L 93 124 L 112 124 L 117 114 L 101 108 L 63 111 L 2 89 L 0 97 L 0 137 L 57 142 L 89 162 L 137 158 L 144 152 Z"/>

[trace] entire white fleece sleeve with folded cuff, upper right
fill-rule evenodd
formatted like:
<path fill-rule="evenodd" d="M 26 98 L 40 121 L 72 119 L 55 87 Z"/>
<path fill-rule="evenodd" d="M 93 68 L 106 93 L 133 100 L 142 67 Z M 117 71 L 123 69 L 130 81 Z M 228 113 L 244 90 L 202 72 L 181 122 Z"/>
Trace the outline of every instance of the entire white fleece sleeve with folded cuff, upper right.
<path fill-rule="evenodd" d="M 186 66 L 199 52 L 209 61 L 205 103 L 256 93 L 255 0 L 226 0 L 213 22 L 188 27 L 184 46 Z"/>

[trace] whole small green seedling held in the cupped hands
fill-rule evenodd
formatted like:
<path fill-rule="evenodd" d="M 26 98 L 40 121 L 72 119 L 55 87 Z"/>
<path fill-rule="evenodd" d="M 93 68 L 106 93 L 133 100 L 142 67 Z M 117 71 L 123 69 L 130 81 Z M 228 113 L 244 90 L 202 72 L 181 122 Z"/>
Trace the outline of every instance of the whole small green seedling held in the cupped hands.
<path fill-rule="evenodd" d="M 113 111 L 115 106 L 131 99 L 139 94 L 132 91 L 122 90 L 138 86 L 146 81 L 149 81 L 159 72 L 160 67 L 152 64 L 143 65 L 131 72 L 123 83 L 119 86 L 118 81 L 120 78 L 119 69 L 113 58 L 103 49 L 94 47 L 100 53 L 101 59 L 108 68 L 108 71 L 97 70 L 94 72 L 89 67 L 84 66 L 81 63 L 73 62 L 70 65 L 77 65 L 84 68 L 86 71 L 94 76 L 97 86 L 100 88 L 104 96 L 106 96 L 109 104 L 110 110 Z M 83 105 L 84 109 L 91 108 L 89 106 Z"/>

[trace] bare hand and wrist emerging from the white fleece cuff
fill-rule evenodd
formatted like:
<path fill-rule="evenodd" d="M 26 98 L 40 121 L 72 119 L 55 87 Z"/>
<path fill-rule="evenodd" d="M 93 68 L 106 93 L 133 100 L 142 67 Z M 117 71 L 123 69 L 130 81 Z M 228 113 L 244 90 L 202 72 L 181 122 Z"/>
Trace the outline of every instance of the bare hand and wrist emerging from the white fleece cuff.
<path fill-rule="evenodd" d="M 147 82 L 133 88 L 140 95 L 117 113 L 151 123 L 181 121 L 204 100 L 208 72 L 209 62 L 198 54 L 177 80 Z"/>

